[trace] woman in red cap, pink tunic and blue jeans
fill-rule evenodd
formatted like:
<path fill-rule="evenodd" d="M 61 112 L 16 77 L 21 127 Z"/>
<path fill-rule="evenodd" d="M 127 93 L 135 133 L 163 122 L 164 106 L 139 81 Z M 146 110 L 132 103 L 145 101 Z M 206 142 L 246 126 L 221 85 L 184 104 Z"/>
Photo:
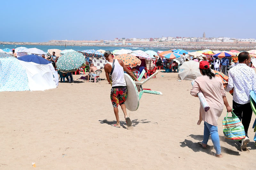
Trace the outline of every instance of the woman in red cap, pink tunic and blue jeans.
<path fill-rule="evenodd" d="M 231 112 L 232 108 L 228 104 L 222 80 L 219 77 L 215 77 L 215 74 L 210 70 L 209 63 L 207 61 L 202 61 L 199 64 L 199 69 L 203 76 L 195 79 L 190 94 L 197 97 L 197 93 L 201 91 L 204 94 L 210 109 L 206 113 L 204 108 L 200 105 L 199 121 L 197 124 L 199 125 L 202 120 L 204 121 L 204 140 L 198 142 L 198 144 L 202 148 L 207 149 L 207 142 L 211 135 L 212 143 L 216 150 L 215 156 L 221 158 L 217 120 L 223 111 L 224 105 L 228 112 Z"/>

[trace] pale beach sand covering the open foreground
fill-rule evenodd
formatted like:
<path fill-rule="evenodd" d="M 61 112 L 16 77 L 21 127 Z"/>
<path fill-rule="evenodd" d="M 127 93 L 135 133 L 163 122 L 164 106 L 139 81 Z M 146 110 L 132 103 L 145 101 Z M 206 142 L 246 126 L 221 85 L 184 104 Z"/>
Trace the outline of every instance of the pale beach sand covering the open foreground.
<path fill-rule="evenodd" d="M 210 139 L 210 149 L 197 144 L 204 124 L 196 124 L 200 103 L 190 95 L 191 81 L 160 72 L 144 84 L 163 95 L 144 93 L 139 109 L 127 110 L 133 126 L 128 130 L 121 107 L 121 128 L 111 126 L 116 123 L 111 87 L 104 71 L 100 77 L 101 83 L 0 92 L 0 169 L 255 169 L 254 114 L 248 150 L 241 151 L 238 141 L 224 138 L 223 110 L 218 120 L 223 158 L 215 158 Z M 231 94 L 227 98 L 232 106 Z"/>

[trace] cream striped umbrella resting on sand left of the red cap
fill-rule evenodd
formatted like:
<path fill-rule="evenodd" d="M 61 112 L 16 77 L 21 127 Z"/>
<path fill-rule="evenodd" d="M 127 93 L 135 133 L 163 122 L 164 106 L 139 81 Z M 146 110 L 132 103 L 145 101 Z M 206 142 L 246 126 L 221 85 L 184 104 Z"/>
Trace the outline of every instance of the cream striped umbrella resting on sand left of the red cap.
<path fill-rule="evenodd" d="M 180 66 L 178 77 L 181 80 L 195 80 L 202 76 L 199 70 L 199 63 L 196 61 L 186 61 Z"/>

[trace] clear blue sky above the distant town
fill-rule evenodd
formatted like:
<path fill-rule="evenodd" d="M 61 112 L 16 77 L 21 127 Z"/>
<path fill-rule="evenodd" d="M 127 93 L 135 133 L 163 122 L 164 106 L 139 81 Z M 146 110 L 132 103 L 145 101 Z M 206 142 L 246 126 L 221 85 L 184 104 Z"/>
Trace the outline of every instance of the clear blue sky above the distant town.
<path fill-rule="evenodd" d="M 1 1 L 0 41 L 255 38 L 255 0 Z"/>

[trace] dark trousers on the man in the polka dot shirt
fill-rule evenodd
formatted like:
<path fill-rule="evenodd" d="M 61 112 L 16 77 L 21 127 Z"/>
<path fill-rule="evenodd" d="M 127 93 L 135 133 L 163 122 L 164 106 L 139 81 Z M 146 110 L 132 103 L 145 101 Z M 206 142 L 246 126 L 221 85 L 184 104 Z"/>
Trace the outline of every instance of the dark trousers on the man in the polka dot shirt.
<path fill-rule="evenodd" d="M 245 136 L 248 137 L 247 132 L 249 129 L 249 125 L 252 119 L 252 107 L 250 103 L 246 104 L 238 104 L 233 100 L 233 109 L 235 115 L 242 120 L 242 124 L 244 125 L 244 131 L 245 131 Z"/>

